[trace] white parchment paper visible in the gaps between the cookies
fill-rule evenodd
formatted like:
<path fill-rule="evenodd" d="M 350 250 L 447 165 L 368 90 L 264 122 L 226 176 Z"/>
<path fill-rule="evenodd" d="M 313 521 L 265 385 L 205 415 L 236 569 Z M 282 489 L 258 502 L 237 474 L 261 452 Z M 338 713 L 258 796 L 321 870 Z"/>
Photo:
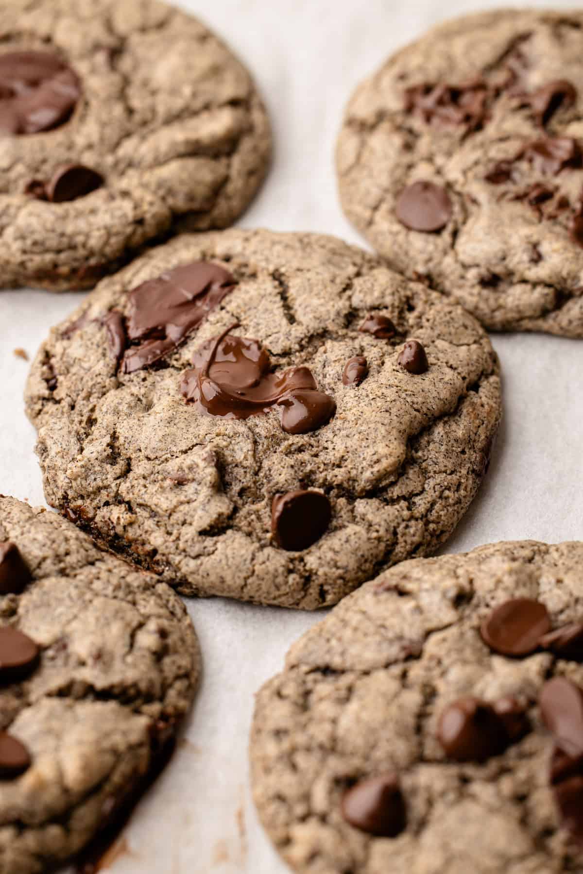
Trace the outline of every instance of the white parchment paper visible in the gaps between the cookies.
<path fill-rule="evenodd" d="M 119 0 L 123 3 L 124 0 Z M 267 184 L 246 227 L 336 233 L 362 242 L 337 200 L 333 148 L 352 88 L 394 49 L 446 16 L 496 6 L 468 0 L 183 0 L 250 67 L 274 123 Z M 559 7 L 559 3 L 531 6 Z M 171 51 L 171 46 L 169 46 Z M 81 295 L 0 292 L 0 492 L 43 503 L 22 393 L 52 323 Z M 489 541 L 583 537 L 583 341 L 494 336 L 504 421 L 489 475 L 447 551 Z M 172 764 L 130 823 L 115 874 L 283 874 L 250 800 L 246 745 L 253 692 L 281 667 L 317 614 L 192 600 L 202 688 Z M 387 731 L 390 726 L 387 725 Z"/>

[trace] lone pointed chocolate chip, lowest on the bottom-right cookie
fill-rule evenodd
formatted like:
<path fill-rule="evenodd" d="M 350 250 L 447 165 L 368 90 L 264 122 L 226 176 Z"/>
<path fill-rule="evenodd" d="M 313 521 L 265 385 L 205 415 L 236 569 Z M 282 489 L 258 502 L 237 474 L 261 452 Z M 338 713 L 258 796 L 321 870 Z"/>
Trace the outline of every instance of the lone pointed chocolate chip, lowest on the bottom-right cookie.
<path fill-rule="evenodd" d="M 379 837 L 396 837 L 406 827 L 405 800 L 392 772 L 359 780 L 344 793 L 342 815 L 355 829 Z"/>

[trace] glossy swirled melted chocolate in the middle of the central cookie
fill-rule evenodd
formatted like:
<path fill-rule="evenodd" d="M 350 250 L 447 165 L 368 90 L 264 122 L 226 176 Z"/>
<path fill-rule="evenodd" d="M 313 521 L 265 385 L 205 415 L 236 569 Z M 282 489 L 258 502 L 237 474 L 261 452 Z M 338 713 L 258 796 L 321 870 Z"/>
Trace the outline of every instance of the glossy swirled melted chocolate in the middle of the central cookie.
<path fill-rule="evenodd" d="M 307 367 L 272 373 L 269 355 L 257 340 L 228 336 L 231 326 L 192 356 L 180 391 L 198 409 L 226 419 L 248 419 L 281 407 L 287 434 L 306 434 L 326 425 L 336 412 L 330 395 L 318 392 Z"/>

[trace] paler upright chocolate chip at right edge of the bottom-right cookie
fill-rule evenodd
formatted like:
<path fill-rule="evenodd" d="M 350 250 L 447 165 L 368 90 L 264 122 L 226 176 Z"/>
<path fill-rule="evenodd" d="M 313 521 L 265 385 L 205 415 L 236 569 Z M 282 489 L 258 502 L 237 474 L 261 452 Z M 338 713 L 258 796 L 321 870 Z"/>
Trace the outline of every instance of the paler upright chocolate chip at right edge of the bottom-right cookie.
<path fill-rule="evenodd" d="M 583 755 L 583 690 L 565 676 L 555 676 L 543 686 L 538 706 L 557 746 L 568 756 Z"/>

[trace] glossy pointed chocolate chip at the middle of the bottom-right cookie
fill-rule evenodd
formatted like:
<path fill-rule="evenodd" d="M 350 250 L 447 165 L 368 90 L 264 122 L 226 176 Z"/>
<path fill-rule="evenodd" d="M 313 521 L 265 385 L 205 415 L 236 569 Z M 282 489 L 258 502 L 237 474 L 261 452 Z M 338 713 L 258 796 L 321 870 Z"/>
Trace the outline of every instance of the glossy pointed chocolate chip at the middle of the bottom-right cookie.
<path fill-rule="evenodd" d="M 475 697 L 459 698 L 441 713 L 437 739 L 449 759 L 482 762 L 509 746 L 503 718 Z"/>

